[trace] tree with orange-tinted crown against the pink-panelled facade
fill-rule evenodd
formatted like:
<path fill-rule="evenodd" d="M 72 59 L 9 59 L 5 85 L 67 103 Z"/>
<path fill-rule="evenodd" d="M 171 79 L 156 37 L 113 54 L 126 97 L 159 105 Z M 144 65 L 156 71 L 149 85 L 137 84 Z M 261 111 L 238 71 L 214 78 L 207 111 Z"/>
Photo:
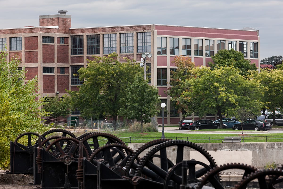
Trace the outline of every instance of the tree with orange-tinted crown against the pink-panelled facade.
<path fill-rule="evenodd" d="M 170 72 L 170 87 L 167 89 L 167 95 L 170 95 L 170 101 L 173 102 L 179 112 L 183 113 L 183 118 L 186 116 L 186 105 L 181 103 L 183 101 L 180 94 L 183 92 L 182 85 L 185 79 L 191 78 L 191 70 L 195 67 L 195 64 L 191 61 L 191 58 L 186 56 L 175 56 L 172 63 L 177 66 L 176 71 Z"/>

